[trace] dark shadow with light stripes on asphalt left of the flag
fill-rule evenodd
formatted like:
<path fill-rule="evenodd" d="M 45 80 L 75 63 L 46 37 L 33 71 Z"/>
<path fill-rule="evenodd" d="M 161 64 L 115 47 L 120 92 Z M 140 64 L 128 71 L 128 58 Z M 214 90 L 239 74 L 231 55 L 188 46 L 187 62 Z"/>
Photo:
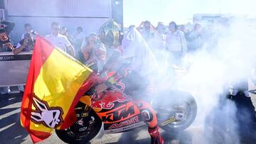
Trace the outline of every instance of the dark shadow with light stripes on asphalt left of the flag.
<path fill-rule="evenodd" d="M 20 104 L 15 105 L 21 102 L 21 94 L 1 95 L 0 100 L 0 143 L 22 143 L 28 132 L 20 123 Z M 5 106 L 10 107 L 4 108 Z"/>

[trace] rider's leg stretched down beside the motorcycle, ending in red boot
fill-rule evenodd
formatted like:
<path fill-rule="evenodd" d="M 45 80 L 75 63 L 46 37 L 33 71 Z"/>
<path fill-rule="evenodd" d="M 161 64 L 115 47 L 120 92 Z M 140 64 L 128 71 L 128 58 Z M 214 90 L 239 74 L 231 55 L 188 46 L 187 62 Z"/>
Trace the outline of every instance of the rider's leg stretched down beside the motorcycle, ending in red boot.
<path fill-rule="evenodd" d="M 154 109 L 148 102 L 142 101 L 144 98 L 149 99 L 149 96 L 154 92 L 154 78 L 142 77 L 137 72 L 127 72 L 126 77 L 123 77 L 122 82 L 125 86 L 124 93 L 132 96 L 135 104 L 137 104 L 141 110 L 144 120 L 149 123 L 151 143 L 164 143 L 164 139 L 159 133 L 159 126 L 157 125 L 157 118 Z"/>

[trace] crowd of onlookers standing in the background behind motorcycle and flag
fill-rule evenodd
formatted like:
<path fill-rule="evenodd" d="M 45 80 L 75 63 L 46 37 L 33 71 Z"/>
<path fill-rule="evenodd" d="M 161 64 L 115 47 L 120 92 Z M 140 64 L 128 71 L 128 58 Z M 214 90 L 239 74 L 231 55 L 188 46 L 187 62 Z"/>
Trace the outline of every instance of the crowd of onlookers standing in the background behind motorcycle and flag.
<path fill-rule="evenodd" d="M 11 38 L 9 37 L 9 33 L 14 28 L 15 23 L 2 21 L 0 26 L 7 38 L 6 40 L 1 40 L 3 45 L 0 45 L 0 52 L 13 51 L 14 55 L 17 55 L 22 51 L 33 50 L 38 33 L 33 30 L 30 23 L 24 25 L 25 31 L 16 46 L 11 45 Z M 46 40 L 80 60 L 83 64 L 89 65 L 92 70 L 97 72 L 103 69 L 103 66 L 114 51 L 109 45 L 102 43 L 98 32 L 85 35 L 83 28 L 78 26 L 75 33 L 70 35 L 68 28 L 60 26 L 60 23 L 56 22 L 51 23 L 50 28 L 50 34 L 45 36 Z M 157 26 L 153 26 L 150 21 L 142 21 L 139 26 L 129 26 L 124 33 L 131 31 L 132 28 L 136 28 L 142 35 L 156 61 L 167 65 L 182 65 L 183 57 L 188 52 L 203 48 L 203 43 L 207 38 L 211 38 L 210 41 L 214 41 L 211 31 L 206 31 L 206 28 L 203 28 L 199 23 L 185 26 L 177 25 L 174 21 L 171 21 L 168 26 L 165 26 L 162 22 L 159 22 Z M 125 43 L 119 49 L 122 49 L 122 55 L 131 55 L 132 50 L 127 50 Z M 23 88 L 20 87 L 20 90 L 23 91 Z M 1 90 L 1 94 L 7 94 L 8 92 L 9 89 Z"/>

